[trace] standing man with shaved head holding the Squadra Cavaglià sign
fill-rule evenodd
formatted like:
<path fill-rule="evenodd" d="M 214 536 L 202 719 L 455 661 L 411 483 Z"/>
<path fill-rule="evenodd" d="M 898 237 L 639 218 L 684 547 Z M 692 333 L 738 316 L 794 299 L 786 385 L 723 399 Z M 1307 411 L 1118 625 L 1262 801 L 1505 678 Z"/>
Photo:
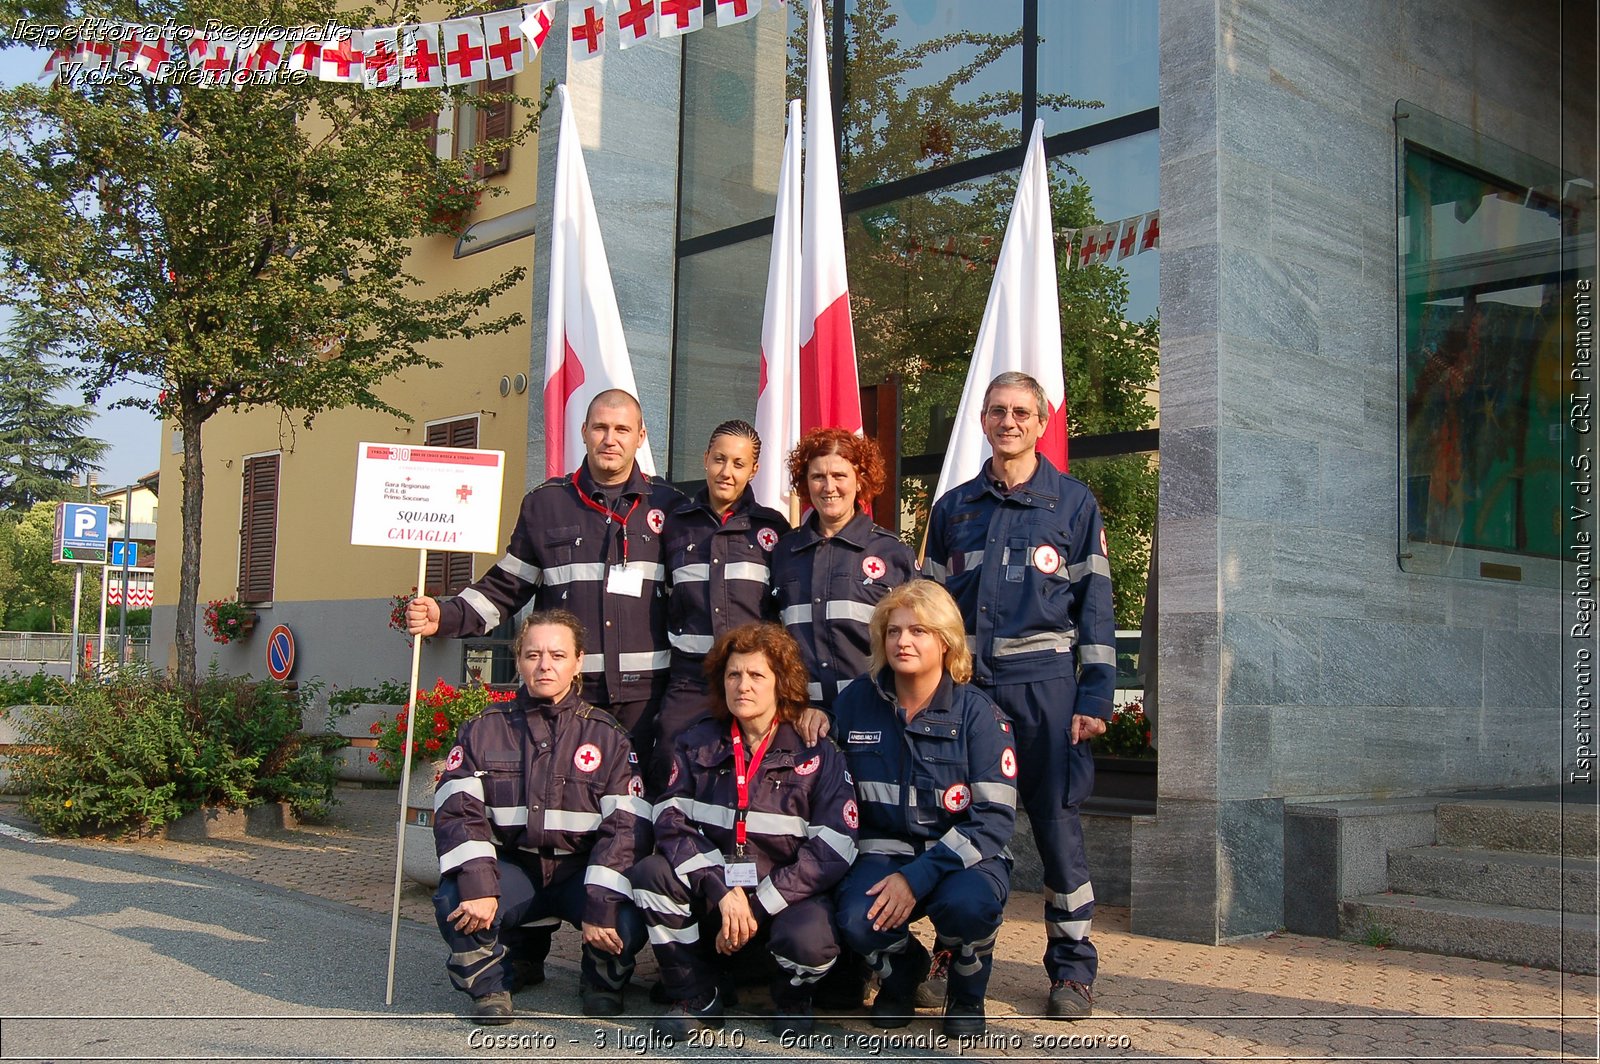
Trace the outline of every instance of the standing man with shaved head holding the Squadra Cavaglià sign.
<path fill-rule="evenodd" d="M 637 398 L 600 392 L 582 430 L 582 466 L 523 498 L 506 557 L 456 598 L 419 595 L 406 606 L 406 630 L 482 635 L 530 600 L 538 610 L 573 611 L 592 645 L 582 698 L 627 728 L 643 768 L 670 664 L 661 528 L 685 499 L 634 462 L 645 442 Z"/>

